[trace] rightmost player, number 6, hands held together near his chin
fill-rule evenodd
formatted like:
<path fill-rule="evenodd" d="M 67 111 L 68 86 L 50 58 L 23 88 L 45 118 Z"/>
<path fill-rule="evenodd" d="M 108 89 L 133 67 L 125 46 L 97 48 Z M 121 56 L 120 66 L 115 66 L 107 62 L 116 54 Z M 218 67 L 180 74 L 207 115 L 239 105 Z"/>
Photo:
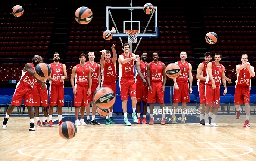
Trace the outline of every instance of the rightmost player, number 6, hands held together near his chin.
<path fill-rule="evenodd" d="M 250 127 L 250 91 L 251 91 L 251 77 L 255 76 L 254 67 L 250 65 L 248 61 L 248 55 L 242 55 L 242 64 L 236 66 L 237 80 L 235 87 L 234 102 L 237 109 L 236 119 L 239 119 L 241 108 L 240 104 L 244 103 L 246 120 L 244 127 Z"/>

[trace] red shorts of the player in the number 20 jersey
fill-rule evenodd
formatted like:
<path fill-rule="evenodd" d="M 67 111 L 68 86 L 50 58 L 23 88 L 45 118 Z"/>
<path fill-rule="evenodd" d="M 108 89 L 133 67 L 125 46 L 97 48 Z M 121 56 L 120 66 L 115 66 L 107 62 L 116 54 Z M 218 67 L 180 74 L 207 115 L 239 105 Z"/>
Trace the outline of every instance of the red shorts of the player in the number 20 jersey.
<path fill-rule="evenodd" d="M 220 100 L 220 86 L 212 89 L 212 85 L 206 85 L 206 107 L 216 107 L 219 108 Z"/>

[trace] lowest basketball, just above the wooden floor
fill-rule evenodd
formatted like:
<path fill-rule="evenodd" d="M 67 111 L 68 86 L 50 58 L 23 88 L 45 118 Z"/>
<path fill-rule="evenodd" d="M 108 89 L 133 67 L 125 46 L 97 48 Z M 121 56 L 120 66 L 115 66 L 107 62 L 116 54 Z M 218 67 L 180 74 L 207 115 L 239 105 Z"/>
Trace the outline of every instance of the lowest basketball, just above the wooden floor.
<path fill-rule="evenodd" d="M 71 121 L 65 121 L 59 126 L 59 135 L 64 139 L 75 137 L 76 131 L 76 126 Z"/>

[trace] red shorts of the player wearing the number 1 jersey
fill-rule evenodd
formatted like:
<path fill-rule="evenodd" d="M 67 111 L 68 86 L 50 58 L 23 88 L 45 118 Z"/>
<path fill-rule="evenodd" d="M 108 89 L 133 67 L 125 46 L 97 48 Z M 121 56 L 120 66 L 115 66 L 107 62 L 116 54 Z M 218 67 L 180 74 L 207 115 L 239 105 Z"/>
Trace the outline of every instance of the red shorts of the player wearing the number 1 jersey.
<path fill-rule="evenodd" d="M 162 92 L 163 82 L 151 82 L 152 91 L 147 94 L 147 103 L 165 103 L 165 92 Z"/>

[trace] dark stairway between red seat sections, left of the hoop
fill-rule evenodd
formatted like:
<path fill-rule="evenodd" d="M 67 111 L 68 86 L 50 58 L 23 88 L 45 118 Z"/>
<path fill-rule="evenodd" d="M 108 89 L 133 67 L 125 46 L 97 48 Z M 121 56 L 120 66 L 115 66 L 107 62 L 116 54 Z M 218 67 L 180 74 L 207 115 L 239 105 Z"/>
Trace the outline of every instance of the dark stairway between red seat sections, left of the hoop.
<path fill-rule="evenodd" d="M 59 56 L 62 60 L 65 58 L 65 49 L 68 36 L 67 34 L 69 33 L 68 30 L 71 17 L 72 10 L 70 10 L 67 6 L 59 7 L 58 11 L 56 11 L 55 26 L 53 29 L 52 37 L 52 46 L 50 49 L 50 59 L 53 58 L 53 54 L 55 52 L 59 53 Z"/>

